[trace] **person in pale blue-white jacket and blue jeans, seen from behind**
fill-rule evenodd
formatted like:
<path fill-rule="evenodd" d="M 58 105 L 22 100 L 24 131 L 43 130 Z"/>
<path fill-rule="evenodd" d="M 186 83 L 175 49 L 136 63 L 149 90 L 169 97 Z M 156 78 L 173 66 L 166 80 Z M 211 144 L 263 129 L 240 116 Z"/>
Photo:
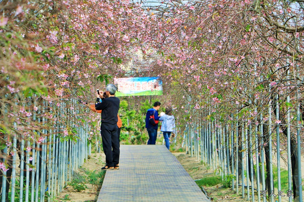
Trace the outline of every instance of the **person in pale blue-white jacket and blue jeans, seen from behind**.
<path fill-rule="evenodd" d="M 164 139 L 166 142 L 166 147 L 169 149 L 170 148 L 170 135 L 173 132 L 175 132 L 175 119 L 174 116 L 172 115 L 172 108 L 168 107 L 166 108 L 166 113 L 159 118 L 159 121 L 162 121 L 161 124 L 161 131 L 164 134 Z"/>

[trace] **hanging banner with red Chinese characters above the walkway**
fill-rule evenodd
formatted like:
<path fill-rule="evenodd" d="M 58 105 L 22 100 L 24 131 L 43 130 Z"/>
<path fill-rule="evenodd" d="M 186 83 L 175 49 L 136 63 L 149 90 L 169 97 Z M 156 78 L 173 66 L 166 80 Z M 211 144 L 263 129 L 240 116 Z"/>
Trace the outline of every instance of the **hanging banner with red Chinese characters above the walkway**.
<path fill-rule="evenodd" d="M 157 77 L 114 78 L 116 97 L 162 95 L 162 83 Z"/>

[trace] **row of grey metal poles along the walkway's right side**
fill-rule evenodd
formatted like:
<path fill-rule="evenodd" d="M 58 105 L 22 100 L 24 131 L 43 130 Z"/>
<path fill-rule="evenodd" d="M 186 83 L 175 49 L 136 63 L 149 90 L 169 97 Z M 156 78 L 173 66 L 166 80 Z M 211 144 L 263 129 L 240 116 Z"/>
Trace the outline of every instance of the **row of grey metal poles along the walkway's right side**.
<path fill-rule="evenodd" d="M 263 116 L 260 114 L 254 119 L 239 119 L 234 116 L 233 120 L 226 123 L 216 119 L 212 121 L 200 119 L 193 124 L 188 124 L 184 131 L 186 152 L 191 157 L 197 157 L 198 161 L 204 162 L 210 168 L 212 167 L 213 171 L 220 174 L 223 180 L 225 180 L 226 176 L 233 176 L 231 177 L 232 189 L 237 194 L 241 191 L 242 198 L 245 198 L 245 190 L 247 189 L 247 200 L 250 200 L 251 197 L 253 202 L 266 202 L 267 198 L 265 196 L 267 195 L 269 202 L 274 202 L 275 200 L 281 202 L 282 196 L 289 197 L 288 200 L 291 202 L 292 195 L 295 195 L 296 192 L 298 195 L 296 201 L 302 202 L 300 110 L 299 107 L 296 110 L 296 125 L 291 123 L 290 109 L 287 111 L 287 122 L 278 124 L 274 121 L 274 119 L 279 120 L 278 99 L 274 109 L 272 106 L 268 106 L 268 114 L 266 114 L 268 121 L 263 121 Z M 257 108 L 255 108 L 255 113 L 257 114 Z M 210 115 L 210 113 L 208 114 Z M 275 117 L 273 117 L 273 114 L 275 114 Z M 206 117 L 203 114 L 201 116 Z M 252 122 L 248 120 L 252 120 Z M 284 124 L 283 127 L 282 124 Z M 280 128 L 286 128 L 287 137 L 280 135 Z M 294 137 L 295 135 L 292 137 L 291 130 L 296 131 L 296 137 Z M 276 142 L 273 142 L 272 138 L 275 138 Z M 291 141 L 295 143 L 296 147 L 293 150 L 293 156 L 296 158 L 297 164 L 295 166 L 298 170 L 298 174 L 293 176 L 293 180 Z M 283 142 L 286 142 L 287 145 L 284 146 Z M 182 146 L 184 147 L 184 144 Z M 287 151 L 285 147 L 287 147 Z M 277 158 L 276 165 L 273 164 L 275 153 Z M 288 166 L 287 192 L 286 190 L 280 192 L 283 191 L 281 190 L 280 175 L 280 158 L 283 153 L 287 153 L 285 155 L 287 156 Z M 273 166 L 277 166 L 278 193 L 275 193 L 274 190 Z M 246 182 L 245 171 L 247 173 Z M 268 181 L 267 177 L 269 177 Z M 255 181 L 256 184 L 254 183 Z M 295 183 L 296 191 L 294 190 L 295 187 L 292 187 L 293 183 Z M 239 186 L 241 190 L 239 190 Z M 257 191 L 257 197 L 254 195 L 255 190 Z M 277 199 L 275 199 L 275 195 Z"/>

